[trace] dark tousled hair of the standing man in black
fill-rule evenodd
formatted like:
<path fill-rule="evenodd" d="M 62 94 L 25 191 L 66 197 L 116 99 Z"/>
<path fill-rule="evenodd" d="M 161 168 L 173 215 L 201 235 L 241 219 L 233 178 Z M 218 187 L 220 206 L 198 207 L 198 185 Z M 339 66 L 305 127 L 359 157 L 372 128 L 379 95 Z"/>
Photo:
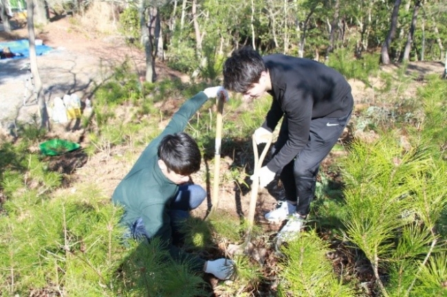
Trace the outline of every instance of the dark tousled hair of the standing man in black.
<path fill-rule="evenodd" d="M 245 93 L 259 82 L 266 71 L 264 61 L 252 47 L 246 46 L 233 52 L 223 65 L 223 87 L 237 93 Z"/>

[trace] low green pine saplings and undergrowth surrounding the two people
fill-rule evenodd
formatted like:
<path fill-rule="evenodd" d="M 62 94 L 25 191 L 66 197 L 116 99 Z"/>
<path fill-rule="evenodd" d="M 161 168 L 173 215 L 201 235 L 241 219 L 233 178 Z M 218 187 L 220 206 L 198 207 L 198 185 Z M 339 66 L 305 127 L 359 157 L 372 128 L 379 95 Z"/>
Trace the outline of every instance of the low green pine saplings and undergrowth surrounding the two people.
<path fill-rule="evenodd" d="M 373 58 L 344 59 L 338 68 L 367 80 L 366 74 L 377 70 Z M 179 80 L 141 85 L 128 72 L 124 63 L 97 87 L 94 118 L 85 122 L 90 144 L 84 150 L 90 156 L 109 155 L 111 148 L 122 146 L 129 155 L 121 157 L 132 164 L 160 124 L 207 86 Z M 384 91 L 383 100 L 390 104 L 353 117 L 352 129 L 380 137 L 355 139 L 340 148 L 345 157 L 320 173 L 309 225 L 281 250 L 283 256 L 272 249 L 270 234 L 256 226 L 252 237 L 274 259 L 272 266 L 246 254 L 233 256 L 235 278 L 213 288 L 190 263 L 172 261 L 157 240 L 123 244 L 118 227 L 122 209 L 94 181 L 76 184 L 76 192 L 65 188 L 65 174 L 51 170 L 48 160 L 30 149 L 45 135 L 35 126 L 19 126 L 19 140 L 0 144 L 0 295 L 210 296 L 215 290 L 221 296 L 443 296 L 447 89 L 444 80 L 427 79 L 417 98 L 396 102 L 394 94 L 386 97 Z M 166 98 L 176 98 L 177 106 L 162 109 Z M 241 192 L 249 188 L 250 135 L 269 107 L 268 97 L 250 107 L 237 96 L 226 103 L 221 149 L 232 165 L 222 184 L 236 184 Z M 187 132 L 211 163 L 214 100 L 190 120 Z M 203 180 L 213 179 L 210 168 L 201 174 Z M 182 246 L 205 258 L 229 257 L 226 248 L 243 243 L 246 230 L 243 218 L 230 214 L 217 212 L 205 221 L 193 217 L 184 224 Z M 327 257 L 334 242 L 356 251 L 354 261 L 369 265 L 372 281 L 364 282 L 354 267 L 334 270 Z"/>

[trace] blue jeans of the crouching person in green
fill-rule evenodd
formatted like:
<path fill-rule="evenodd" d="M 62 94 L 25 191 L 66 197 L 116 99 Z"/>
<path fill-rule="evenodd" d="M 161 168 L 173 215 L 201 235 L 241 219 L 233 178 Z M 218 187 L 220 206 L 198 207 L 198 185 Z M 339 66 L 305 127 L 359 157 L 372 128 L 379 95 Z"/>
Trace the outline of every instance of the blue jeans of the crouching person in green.
<path fill-rule="evenodd" d="M 171 217 L 171 228 L 173 238 L 179 238 L 179 223 L 188 219 L 190 210 L 198 208 L 205 200 L 206 191 L 196 184 L 185 184 L 179 186 L 179 192 L 171 203 L 171 210 L 169 210 L 169 217 Z M 129 225 L 129 233 L 124 234 L 124 238 L 133 238 L 136 240 L 150 239 L 150 236 L 144 228 L 142 218 L 137 219 Z"/>

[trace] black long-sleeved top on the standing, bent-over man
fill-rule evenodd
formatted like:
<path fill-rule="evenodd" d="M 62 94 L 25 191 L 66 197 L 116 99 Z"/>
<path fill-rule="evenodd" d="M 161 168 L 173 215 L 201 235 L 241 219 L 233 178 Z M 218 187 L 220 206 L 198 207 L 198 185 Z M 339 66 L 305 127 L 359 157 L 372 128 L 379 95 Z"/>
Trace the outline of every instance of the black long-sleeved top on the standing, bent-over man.
<path fill-rule="evenodd" d="M 283 54 L 264 56 L 273 96 L 263 127 L 273 131 L 287 115 L 289 139 L 267 164 L 277 172 L 288 164 L 309 140 L 310 122 L 316 118 L 341 118 L 352 111 L 351 86 L 336 70 L 317 61 Z"/>

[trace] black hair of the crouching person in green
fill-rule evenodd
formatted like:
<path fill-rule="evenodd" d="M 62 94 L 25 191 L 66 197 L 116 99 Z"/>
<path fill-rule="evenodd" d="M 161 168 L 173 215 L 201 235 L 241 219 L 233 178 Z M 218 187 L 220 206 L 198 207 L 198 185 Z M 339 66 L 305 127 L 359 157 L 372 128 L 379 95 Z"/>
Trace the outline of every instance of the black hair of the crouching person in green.
<path fill-rule="evenodd" d="M 158 158 L 168 166 L 168 170 L 174 170 L 179 175 L 190 175 L 200 169 L 199 146 L 184 132 L 163 137 L 157 154 Z"/>

